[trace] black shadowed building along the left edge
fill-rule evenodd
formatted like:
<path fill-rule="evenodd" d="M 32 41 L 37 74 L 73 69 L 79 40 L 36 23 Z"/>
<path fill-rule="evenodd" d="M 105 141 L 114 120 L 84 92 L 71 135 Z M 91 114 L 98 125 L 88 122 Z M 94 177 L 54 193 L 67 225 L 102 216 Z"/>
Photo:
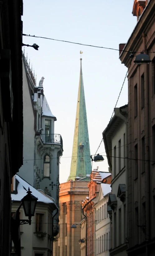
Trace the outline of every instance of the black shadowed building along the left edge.
<path fill-rule="evenodd" d="M 0 255 L 10 255 L 11 183 L 23 163 L 22 10 L 0 2 Z"/>

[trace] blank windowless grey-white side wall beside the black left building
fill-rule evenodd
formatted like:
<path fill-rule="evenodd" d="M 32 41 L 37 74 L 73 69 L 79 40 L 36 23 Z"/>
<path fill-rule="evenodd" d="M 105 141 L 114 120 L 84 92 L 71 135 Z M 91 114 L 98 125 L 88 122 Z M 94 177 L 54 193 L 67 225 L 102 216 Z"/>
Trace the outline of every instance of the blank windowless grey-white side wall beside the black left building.
<path fill-rule="evenodd" d="M 34 178 L 34 137 L 34 114 L 23 63 L 23 165 L 19 169 L 19 176 L 32 186 Z"/>

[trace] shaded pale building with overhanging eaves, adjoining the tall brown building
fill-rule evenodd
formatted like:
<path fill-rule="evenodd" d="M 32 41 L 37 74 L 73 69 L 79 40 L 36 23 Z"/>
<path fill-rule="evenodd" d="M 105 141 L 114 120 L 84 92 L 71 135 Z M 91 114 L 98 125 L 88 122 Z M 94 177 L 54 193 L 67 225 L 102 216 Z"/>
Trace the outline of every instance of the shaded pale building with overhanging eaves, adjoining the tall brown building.
<path fill-rule="evenodd" d="M 108 212 L 112 217 L 110 255 L 126 255 L 128 244 L 128 105 L 115 108 L 115 115 L 103 131 L 112 172 Z"/>

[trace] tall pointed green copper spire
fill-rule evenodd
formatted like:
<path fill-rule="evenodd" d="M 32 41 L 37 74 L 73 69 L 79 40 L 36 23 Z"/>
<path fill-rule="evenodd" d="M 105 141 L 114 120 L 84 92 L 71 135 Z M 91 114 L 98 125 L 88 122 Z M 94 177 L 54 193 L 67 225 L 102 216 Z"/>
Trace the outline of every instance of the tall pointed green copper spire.
<path fill-rule="evenodd" d="M 82 77 L 82 59 L 80 60 L 81 69 L 77 99 L 77 113 L 75 120 L 72 162 L 68 180 L 75 180 L 76 177 L 89 177 L 92 168 L 90 158 L 86 103 Z"/>

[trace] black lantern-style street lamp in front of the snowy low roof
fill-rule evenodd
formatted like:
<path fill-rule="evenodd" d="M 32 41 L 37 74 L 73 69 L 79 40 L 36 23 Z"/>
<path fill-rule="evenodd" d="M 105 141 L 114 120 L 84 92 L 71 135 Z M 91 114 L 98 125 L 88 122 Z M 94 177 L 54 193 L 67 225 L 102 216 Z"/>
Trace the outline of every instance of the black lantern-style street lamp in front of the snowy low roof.
<path fill-rule="evenodd" d="M 35 215 L 35 207 L 38 198 L 35 196 L 31 195 L 30 188 L 28 188 L 27 195 L 21 199 L 23 208 L 24 208 L 24 213 L 26 217 L 29 217 L 29 220 L 21 220 L 20 224 L 27 224 L 31 225 L 31 217 Z"/>

